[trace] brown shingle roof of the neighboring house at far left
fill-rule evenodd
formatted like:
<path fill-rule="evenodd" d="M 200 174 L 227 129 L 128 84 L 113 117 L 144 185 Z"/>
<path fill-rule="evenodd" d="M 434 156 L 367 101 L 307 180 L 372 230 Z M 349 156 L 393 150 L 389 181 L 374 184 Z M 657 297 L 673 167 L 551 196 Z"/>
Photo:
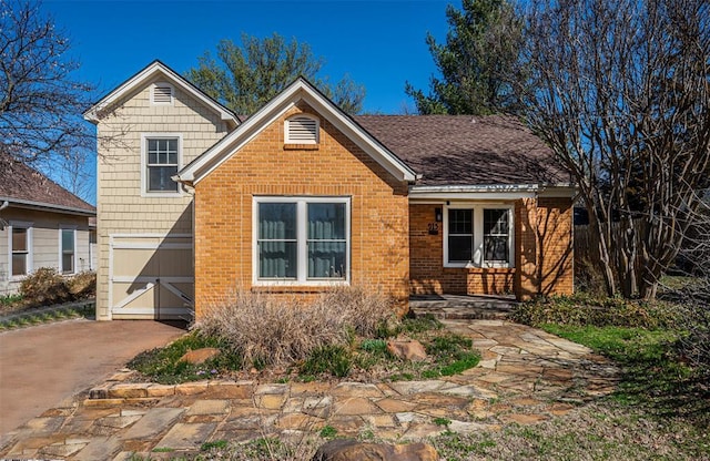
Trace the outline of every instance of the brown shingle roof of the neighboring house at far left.
<path fill-rule="evenodd" d="M 54 183 L 37 170 L 10 155 L 0 152 L 0 198 L 22 203 L 37 203 L 50 208 L 60 208 L 87 214 L 97 208 Z"/>

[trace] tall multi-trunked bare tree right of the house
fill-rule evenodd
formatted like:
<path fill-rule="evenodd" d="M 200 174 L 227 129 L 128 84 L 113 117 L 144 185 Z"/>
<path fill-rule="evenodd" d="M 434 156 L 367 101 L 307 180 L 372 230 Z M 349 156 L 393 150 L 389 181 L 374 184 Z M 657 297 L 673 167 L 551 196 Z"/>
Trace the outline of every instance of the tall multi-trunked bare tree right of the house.
<path fill-rule="evenodd" d="M 708 0 L 529 7 L 526 117 L 579 186 L 609 295 L 652 298 L 694 223 L 710 178 L 709 23 Z"/>

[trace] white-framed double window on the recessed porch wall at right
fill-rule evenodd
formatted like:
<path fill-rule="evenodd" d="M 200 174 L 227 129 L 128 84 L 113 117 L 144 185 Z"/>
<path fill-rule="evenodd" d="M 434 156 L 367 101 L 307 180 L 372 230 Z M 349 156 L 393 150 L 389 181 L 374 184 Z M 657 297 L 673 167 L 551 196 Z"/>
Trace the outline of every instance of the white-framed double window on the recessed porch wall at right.
<path fill-rule="evenodd" d="M 445 267 L 513 267 L 511 206 L 444 208 Z"/>

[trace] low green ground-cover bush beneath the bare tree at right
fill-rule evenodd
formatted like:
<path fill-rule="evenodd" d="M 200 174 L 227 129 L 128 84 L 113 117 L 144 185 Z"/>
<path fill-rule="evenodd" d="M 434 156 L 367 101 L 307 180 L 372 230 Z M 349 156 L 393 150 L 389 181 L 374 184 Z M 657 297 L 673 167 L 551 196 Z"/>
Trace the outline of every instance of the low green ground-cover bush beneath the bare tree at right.
<path fill-rule="evenodd" d="M 520 324 L 638 327 L 656 329 L 673 325 L 676 313 L 663 303 L 649 304 L 585 294 L 538 298 L 518 305 L 513 319 Z"/>

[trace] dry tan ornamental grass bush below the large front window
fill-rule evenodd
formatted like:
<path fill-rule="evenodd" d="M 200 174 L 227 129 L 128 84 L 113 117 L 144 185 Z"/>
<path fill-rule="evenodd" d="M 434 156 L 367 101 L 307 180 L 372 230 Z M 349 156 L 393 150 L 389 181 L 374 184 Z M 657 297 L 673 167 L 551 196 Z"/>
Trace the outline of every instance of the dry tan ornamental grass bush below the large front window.
<path fill-rule="evenodd" d="M 285 366 L 306 360 L 317 348 L 347 345 L 353 331 L 374 332 L 392 316 L 384 297 L 355 287 L 335 288 L 302 305 L 237 290 L 209 308 L 195 327 L 227 344 L 244 367 Z"/>

